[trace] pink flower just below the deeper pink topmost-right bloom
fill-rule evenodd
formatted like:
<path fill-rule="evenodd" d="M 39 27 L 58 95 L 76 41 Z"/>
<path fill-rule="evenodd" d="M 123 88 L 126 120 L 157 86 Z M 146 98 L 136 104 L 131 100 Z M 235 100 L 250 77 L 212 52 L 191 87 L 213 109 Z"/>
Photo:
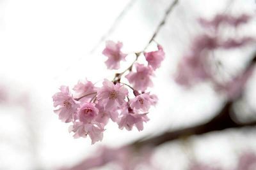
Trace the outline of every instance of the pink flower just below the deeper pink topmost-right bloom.
<path fill-rule="evenodd" d="M 125 76 L 136 90 L 147 90 L 152 87 L 153 83 L 151 76 L 154 75 L 152 67 L 144 66 L 143 64 L 135 64 L 136 72 L 130 72 Z"/>

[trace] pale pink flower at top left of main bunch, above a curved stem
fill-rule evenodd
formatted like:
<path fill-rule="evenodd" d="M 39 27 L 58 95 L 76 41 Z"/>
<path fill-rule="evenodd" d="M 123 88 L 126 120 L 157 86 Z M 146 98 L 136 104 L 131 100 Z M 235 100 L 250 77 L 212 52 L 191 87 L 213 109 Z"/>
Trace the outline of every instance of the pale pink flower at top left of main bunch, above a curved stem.
<path fill-rule="evenodd" d="M 93 93 L 97 92 L 96 87 L 93 85 L 92 81 L 88 81 L 87 79 L 84 81 L 79 80 L 77 85 L 73 88 L 73 90 L 76 92 L 77 97 L 83 97 L 88 94 L 88 95 L 83 97 L 83 100 L 81 101 L 86 101 L 88 99 L 91 99 L 93 96 Z"/>

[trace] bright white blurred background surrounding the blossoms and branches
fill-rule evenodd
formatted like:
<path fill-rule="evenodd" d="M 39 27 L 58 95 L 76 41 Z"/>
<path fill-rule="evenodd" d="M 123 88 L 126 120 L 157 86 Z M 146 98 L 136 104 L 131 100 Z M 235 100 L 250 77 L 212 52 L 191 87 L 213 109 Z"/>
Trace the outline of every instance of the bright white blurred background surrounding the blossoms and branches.
<path fill-rule="evenodd" d="M 157 70 L 154 88 L 159 103 L 150 121 L 138 132 L 121 131 L 108 124 L 104 139 L 73 139 L 68 124 L 53 112 L 52 95 L 60 85 L 79 79 L 102 81 L 113 78 L 107 71 L 102 50 L 106 40 L 122 41 L 125 52 L 141 51 L 148 43 L 172 0 L 0 0 L 0 169 L 56 169 L 72 166 L 99 146 L 122 146 L 144 136 L 198 124 L 211 118 L 225 101 L 203 83 L 184 89 L 173 81 L 179 59 L 202 32 L 198 18 L 217 13 L 249 13 L 250 24 L 239 34 L 256 37 L 254 0 L 180 0 L 156 37 L 166 59 Z M 255 50 L 247 46 L 220 52 L 220 60 L 236 73 Z M 156 48 L 152 43 L 148 50 Z M 223 57 L 224 56 L 224 57 Z M 129 65 L 134 55 L 127 57 Z M 255 75 L 246 86 L 246 104 L 255 108 Z M 255 118 L 255 115 L 241 117 Z M 198 160 L 232 167 L 237 155 L 256 152 L 255 128 L 230 129 L 175 140 L 157 148 L 154 164 L 160 169 L 188 169 Z M 103 167 L 102 169 L 111 169 Z"/>

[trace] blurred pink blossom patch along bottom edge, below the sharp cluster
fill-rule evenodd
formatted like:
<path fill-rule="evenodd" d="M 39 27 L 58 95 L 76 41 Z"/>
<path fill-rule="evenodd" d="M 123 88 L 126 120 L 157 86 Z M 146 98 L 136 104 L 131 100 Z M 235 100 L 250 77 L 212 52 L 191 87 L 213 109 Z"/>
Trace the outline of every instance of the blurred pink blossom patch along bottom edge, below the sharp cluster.
<path fill-rule="evenodd" d="M 75 166 L 65 167 L 59 170 L 104 169 L 104 166 L 109 163 L 119 167 L 114 169 L 135 170 L 141 169 L 141 166 L 147 167 L 148 170 L 157 169 L 151 161 L 153 150 L 149 147 L 143 147 L 134 152 L 134 147 L 132 146 L 122 146 L 120 148 L 102 146 L 96 152 L 97 154 L 86 157 L 86 159 Z"/>

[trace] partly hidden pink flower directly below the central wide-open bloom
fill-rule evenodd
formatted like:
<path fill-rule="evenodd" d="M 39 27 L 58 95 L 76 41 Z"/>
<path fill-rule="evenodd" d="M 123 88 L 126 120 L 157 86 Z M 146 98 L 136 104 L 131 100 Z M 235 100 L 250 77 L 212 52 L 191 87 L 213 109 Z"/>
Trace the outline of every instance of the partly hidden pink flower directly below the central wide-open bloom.
<path fill-rule="evenodd" d="M 95 119 L 96 122 L 106 125 L 108 124 L 109 118 L 111 118 L 113 122 L 118 120 L 117 110 L 106 111 L 101 104 L 96 104 L 96 107 L 99 109 L 99 115 Z"/>

